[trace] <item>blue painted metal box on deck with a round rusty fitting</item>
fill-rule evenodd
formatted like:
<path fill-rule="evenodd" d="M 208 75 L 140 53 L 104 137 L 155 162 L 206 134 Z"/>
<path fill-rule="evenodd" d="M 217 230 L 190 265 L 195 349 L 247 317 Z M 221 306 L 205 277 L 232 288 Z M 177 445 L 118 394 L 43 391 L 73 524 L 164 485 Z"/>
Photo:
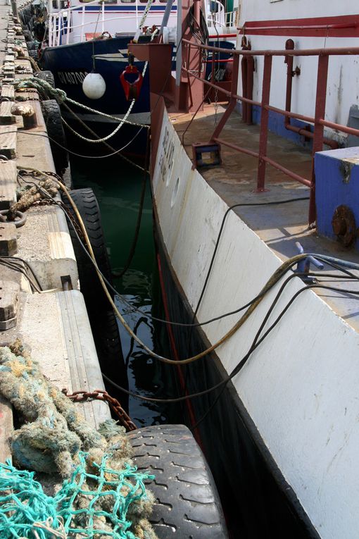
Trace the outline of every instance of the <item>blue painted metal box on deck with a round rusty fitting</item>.
<path fill-rule="evenodd" d="M 317 230 L 336 240 L 332 217 L 337 206 L 345 204 L 359 225 L 359 147 L 320 151 L 315 154 L 315 197 Z M 355 243 L 359 249 L 359 241 Z"/>

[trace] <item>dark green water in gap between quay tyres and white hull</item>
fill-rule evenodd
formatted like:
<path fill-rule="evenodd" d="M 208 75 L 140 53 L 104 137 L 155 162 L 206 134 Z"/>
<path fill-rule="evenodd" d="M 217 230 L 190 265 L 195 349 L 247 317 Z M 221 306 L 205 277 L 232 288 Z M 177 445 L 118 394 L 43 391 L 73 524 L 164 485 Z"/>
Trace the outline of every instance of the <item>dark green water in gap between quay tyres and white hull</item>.
<path fill-rule="evenodd" d="M 120 159 L 74 159 L 71 171 L 75 189 L 92 187 L 96 194 L 111 267 L 113 271 L 120 271 L 127 261 L 134 237 L 144 173 Z M 120 295 L 146 314 L 152 311 L 161 314 L 148 178 L 136 252 L 130 269 L 122 278 L 114 278 L 114 285 Z M 128 308 L 120 295 L 115 297 L 115 302 L 123 314 Z M 168 354 L 163 326 L 154 326 L 151 319 L 140 313 L 127 314 L 125 318 L 148 347 L 160 354 Z M 120 337 L 130 389 L 148 397 L 172 396 L 175 388 L 169 381 L 172 378 L 170 367 L 149 357 L 121 325 Z M 120 380 L 115 382 L 121 383 Z M 174 412 L 173 405 L 168 409 L 162 404 L 149 404 L 130 397 L 130 416 L 138 426 L 172 422 Z"/>

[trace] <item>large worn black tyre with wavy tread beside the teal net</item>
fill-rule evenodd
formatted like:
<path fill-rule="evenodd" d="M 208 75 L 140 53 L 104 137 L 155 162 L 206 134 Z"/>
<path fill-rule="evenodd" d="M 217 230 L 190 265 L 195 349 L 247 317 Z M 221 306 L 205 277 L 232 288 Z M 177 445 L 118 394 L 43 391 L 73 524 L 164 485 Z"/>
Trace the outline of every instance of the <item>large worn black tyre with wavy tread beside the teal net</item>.
<path fill-rule="evenodd" d="M 184 425 L 156 425 L 128 433 L 133 461 L 156 478 L 151 523 L 159 539 L 227 539 L 220 498 L 203 453 Z"/>

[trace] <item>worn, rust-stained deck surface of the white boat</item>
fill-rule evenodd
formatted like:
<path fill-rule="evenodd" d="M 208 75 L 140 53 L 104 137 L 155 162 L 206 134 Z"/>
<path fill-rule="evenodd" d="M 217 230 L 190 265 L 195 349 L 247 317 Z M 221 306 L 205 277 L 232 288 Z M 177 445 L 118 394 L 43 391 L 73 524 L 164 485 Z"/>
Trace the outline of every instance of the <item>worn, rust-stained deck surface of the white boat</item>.
<path fill-rule="evenodd" d="M 191 114 L 172 113 L 170 119 L 178 133 L 184 137 L 184 147 L 192 158 L 191 144 L 207 143 L 215 129 L 215 122 L 220 120 L 225 109 L 218 106 L 205 105 L 192 121 Z M 187 127 L 188 130 L 184 132 Z M 234 111 L 227 125 L 220 134 L 220 138 L 236 144 L 237 146 L 258 151 L 259 127 L 248 126 L 241 121 L 239 113 Z M 282 137 L 268 134 L 267 155 L 291 171 L 310 179 L 311 158 L 310 151 Z M 257 193 L 257 166 L 258 159 L 238 151 L 222 146 L 222 166 L 201 171 L 203 178 L 229 205 L 233 204 L 263 204 L 265 202 L 279 202 L 294 199 L 289 204 L 275 204 L 275 206 L 238 207 L 234 211 L 258 236 L 265 241 L 283 261 L 298 254 L 296 242 L 303 245 L 305 252 L 326 254 L 336 258 L 346 259 L 359 263 L 359 253 L 344 249 L 339 243 L 319 237 L 316 230 L 308 227 L 309 201 L 297 201 L 301 197 L 309 197 L 309 190 L 295 180 L 291 180 L 284 173 L 267 164 L 265 187 L 266 192 Z M 254 268 L 253 268 L 254 270 Z M 260 271 L 258 269 L 258 271 Z M 314 268 L 312 269 L 314 271 Z M 325 267 L 325 273 L 339 273 Z M 353 272 L 359 275 L 359 272 Z M 334 278 L 318 278 L 328 280 L 330 286 L 359 291 L 359 283 Z M 325 299 L 327 304 L 346 322 L 359 330 L 359 303 L 353 295 L 337 293 L 328 290 L 316 290 Z M 305 313 L 303 313 L 305 316 Z"/>

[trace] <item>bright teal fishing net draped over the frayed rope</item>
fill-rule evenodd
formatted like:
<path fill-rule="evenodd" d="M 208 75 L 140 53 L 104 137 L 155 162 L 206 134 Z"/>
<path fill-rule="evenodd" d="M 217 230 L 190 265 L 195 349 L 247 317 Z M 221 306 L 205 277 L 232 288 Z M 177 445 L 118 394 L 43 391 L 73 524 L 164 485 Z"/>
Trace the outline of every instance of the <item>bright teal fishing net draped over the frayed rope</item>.
<path fill-rule="evenodd" d="M 53 497 L 34 472 L 18 470 L 10 461 L 0 464 L 1 539 L 136 539 L 127 510 L 146 497 L 144 481 L 153 476 L 129 464 L 111 469 L 108 454 L 89 473 L 87 456 L 79 452 L 75 471 Z"/>

